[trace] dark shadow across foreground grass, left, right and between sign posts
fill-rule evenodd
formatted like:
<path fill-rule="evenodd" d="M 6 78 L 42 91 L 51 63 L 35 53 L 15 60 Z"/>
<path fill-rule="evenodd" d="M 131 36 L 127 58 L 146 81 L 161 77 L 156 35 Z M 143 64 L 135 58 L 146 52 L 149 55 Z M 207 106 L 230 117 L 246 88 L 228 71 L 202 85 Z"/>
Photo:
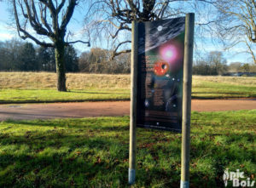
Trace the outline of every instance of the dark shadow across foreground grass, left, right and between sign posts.
<path fill-rule="evenodd" d="M 21 145 L 27 145 L 29 152 L 19 154 L 18 151 L 2 151 L 0 153 L 0 179 L 4 179 L 0 180 L 0 186 L 107 187 L 110 185 L 112 187 L 128 187 L 128 144 L 122 144 L 123 139 L 107 138 L 102 135 L 76 136 L 55 133 L 49 135 L 33 135 L 32 133 L 28 138 L 26 136 L 9 135 L 9 137 L 1 138 L 1 145 L 16 145 L 17 150 Z M 44 137 L 42 138 L 42 136 Z M 210 137 L 211 134 L 206 136 Z M 230 134 L 230 137 L 236 138 L 236 136 L 237 134 Z M 241 134 L 241 136 L 247 136 L 247 134 Z M 155 142 L 149 138 L 151 138 L 150 135 L 143 140 L 148 143 L 149 147 L 146 145 L 143 148 L 138 148 L 137 184 L 150 187 L 160 181 L 163 183 L 161 187 L 178 186 L 180 178 L 178 161 L 169 162 L 168 166 L 160 168 L 159 158 L 162 157 L 160 155 L 178 157 L 180 155 L 177 150 L 179 146 L 175 145 L 176 149 L 170 150 L 165 147 L 166 143 L 172 140 L 165 141 L 163 138 L 163 142 L 161 140 Z M 252 162 L 255 160 L 252 158 L 253 151 L 247 151 L 241 147 L 229 148 L 227 145 L 214 144 L 213 140 L 212 142 L 209 140 L 200 142 L 192 140 L 191 162 L 197 162 L 197 166 L 191 165 L 193 169 L 190 175 L 191 187 L 222 187 L 221 175 L 230 162 L 242 163 L 247 160 L 252 160 Z M 157 148 L 160 148 L 161 151 L 155 151 L 156 148 L 150 143 L 160 145 L 161 147 Z M 119 152 L 125 154 L 108 154 L 111 145 L 117 145 Z M 138 145 L 140 144 L 138 143 Z M 58 151 L 61 146 L 69 149 Z M 86 150 L 83 150 L 84 147 Z M 48 152 L 44 150 L 48 150 Z M 102 157 L 102 153 L 107 156 Z M 151 167 L 147 166 L 148 155 L 154 157 L 150 159 L 151 162 L 155 160 Z M 207 158 L 212 161 L 213 175 L 211 171 L 199 168 L 201 159 Z"/>

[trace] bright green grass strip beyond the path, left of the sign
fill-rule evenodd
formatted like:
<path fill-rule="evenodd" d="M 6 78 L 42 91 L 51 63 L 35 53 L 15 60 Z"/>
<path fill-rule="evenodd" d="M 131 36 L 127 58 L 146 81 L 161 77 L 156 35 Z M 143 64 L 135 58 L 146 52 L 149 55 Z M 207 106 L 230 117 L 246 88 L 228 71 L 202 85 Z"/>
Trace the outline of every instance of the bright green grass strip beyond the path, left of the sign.
<path fill-rule="evenodd" d="M 53 89 L 2 89 L 1 103 L 70 102 L 70 101 L 130 100 L 130 91 L 122 88 L 69 90 Z"/>

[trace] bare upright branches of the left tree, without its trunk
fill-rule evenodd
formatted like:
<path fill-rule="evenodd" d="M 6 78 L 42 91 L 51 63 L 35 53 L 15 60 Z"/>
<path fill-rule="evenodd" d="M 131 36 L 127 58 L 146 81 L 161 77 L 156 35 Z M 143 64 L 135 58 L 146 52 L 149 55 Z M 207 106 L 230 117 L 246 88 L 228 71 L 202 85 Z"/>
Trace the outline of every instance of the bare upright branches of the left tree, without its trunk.
<path fill-rule="evenodd" d="M 44 47 L 55 47 L 55 43 L 60 40 L 64 43 L 66 27 L 71 20 L 77 0 L 69 0 L 66 12 L 62 17 L 61 27 L 58 24 L 58 14 L 64 8 L 66 0 L 61 0 L 59 4 L 57 1 L 53 3 L 52 0 L 38 0 L 38 2 L 36 0 L 13 0 L 12 3 L 17 31 L 22 39 L 30 38 L 38 45 Z M 50 19 L 52 21 L 51 24 L 48 22 Z M 22 21 L 20 22 L 20 20 Z M 31 26 L 32 31 L 29 26 Z M 38 37 L 33 36 L 32 32 L 49 37 L 52 43 L 40 41 Z M 85 43 L 90 45 L 90 42 L 84 42 L 82 40 L 66 42 L 65 44 L 70 43 Z"/>

